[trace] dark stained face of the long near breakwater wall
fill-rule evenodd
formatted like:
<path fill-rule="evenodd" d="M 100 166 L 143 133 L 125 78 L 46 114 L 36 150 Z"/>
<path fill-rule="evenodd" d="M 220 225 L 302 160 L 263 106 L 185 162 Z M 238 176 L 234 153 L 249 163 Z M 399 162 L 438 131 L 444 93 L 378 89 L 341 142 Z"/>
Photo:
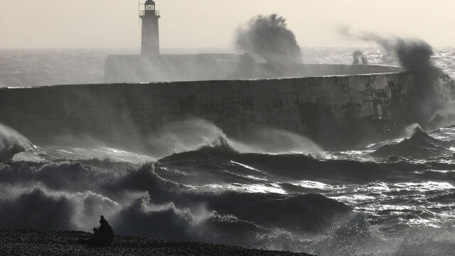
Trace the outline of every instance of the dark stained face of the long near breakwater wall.
<path fill-rule="evenodd" d="M 234 137 L 265 125 L 336 146 L 378 134 L 378 117 L 410 121 L 414 83 L 413 73 L 400 72 L 1 88 L 0 122 L 36 143 L 68 134 L 127 143 L 168 122 L 199 117 Z"/>

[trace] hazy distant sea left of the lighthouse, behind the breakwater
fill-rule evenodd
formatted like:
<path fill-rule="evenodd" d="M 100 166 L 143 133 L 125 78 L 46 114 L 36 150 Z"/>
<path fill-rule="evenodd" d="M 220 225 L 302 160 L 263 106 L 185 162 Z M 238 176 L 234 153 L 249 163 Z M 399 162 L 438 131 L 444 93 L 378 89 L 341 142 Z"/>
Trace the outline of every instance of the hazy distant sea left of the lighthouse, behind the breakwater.
<path fill-rule="evenodd" d="M 137 50 L 0 49 L 0 87 L 90 84 L 104 81 L 107 55 Z"/>

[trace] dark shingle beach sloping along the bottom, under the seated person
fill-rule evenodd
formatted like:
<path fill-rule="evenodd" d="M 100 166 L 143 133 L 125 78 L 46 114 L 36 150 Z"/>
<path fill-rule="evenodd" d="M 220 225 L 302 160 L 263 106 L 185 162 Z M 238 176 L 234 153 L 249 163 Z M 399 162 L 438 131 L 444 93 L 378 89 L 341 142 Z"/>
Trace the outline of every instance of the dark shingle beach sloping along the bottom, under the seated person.
<path fill-rule="evenodd" d="M 0 255 L 300 255 L 306 253 L 253 250 L 202 242 L 164 241 L 116 235 L 109 247 L 87 247 L 82 231 L 0 229 Z"/>

